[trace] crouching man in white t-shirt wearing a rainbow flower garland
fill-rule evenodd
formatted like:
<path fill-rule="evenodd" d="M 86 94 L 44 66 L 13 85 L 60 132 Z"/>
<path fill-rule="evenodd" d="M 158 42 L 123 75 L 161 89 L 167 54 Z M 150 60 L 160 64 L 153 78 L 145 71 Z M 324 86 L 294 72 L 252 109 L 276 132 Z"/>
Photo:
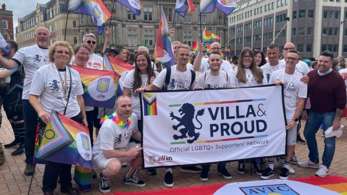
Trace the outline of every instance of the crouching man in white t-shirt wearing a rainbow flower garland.
<path fill-rule="evenodd" d="M 99 190 L 102 193 L 111 191 L 110 177 L 117 175 L 122 163 L 132 161 L 123 183 L 143 187 L 145 182 L 136 177 L 136 172 L 142 165 L 140 144 L 129 143 L 131 137 L 141 140 L 137 128 L 137 116 L 132 113 L 133 105 L 128 96 L 118 96 L 116 113 L 104 120 L 100 133 L 93 146 L 93 164 L 101 169 Z"/>

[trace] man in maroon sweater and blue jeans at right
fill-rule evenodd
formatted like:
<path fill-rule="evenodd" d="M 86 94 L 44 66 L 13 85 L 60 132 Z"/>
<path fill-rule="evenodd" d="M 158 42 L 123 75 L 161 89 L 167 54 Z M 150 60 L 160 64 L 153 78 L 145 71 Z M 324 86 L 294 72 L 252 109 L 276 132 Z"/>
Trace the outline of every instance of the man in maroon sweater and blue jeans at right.
<path fill-rule="evenodd" d="M 308 94 L 311 100 L 310 114 L 303 111 L 301 117 L 307 120 L 303 135 L 310 150 L 309 159 L 299 162 L 301 167 L 319 168 L 316 175 L 326 177 L 330 174 L 329 167 L 335 153 L 335 136 L 324 138 L 322 164 L 319 166 L 316 133 L 320 124 L 324 132 L 333 126 L 333 131 L 340 128 L 340 118 L 346 104 L 346 87 L 340 74 L 332 70 L 333 54 L 324 51 L 318 58 L 318 70 L 308 73 Z"/>

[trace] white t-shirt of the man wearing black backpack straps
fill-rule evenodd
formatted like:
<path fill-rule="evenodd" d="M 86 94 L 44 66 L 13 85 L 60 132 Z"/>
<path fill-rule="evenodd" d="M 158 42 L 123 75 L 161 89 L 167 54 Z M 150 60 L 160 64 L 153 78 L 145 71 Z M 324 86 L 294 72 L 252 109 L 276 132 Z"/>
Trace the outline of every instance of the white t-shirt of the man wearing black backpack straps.
<path fill-rule="evenodd" d="M 177 65 L 174 65 L 171 68 L 170 82 L 167 85 L 167 90 L 189 90 L 191 83 L 191 71 L 190 69 L 186 69 L 186 71 L 181 72 L 176 69 Z M 162 88 L 165 84 L 166 77 L 166 69 L 162 70 L 158 77 L 154 80 L 153 84 L 158 88 Z M 197 79 L 193 81 L 191 85 L 192 88 L 196 86 Z"/>

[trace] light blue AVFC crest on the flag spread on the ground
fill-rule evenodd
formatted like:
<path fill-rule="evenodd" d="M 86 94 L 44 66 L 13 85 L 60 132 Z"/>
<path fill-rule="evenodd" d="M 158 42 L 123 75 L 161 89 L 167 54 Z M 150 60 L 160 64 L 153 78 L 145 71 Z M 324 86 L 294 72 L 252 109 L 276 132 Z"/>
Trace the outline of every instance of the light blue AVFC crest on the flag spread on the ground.
<path fill-rule="evenodd" d="M 299 195 L 299 193 L 294 191 L 287 184 L 240 187 L 240 190 L 244 192 L 245 195 Z"/>

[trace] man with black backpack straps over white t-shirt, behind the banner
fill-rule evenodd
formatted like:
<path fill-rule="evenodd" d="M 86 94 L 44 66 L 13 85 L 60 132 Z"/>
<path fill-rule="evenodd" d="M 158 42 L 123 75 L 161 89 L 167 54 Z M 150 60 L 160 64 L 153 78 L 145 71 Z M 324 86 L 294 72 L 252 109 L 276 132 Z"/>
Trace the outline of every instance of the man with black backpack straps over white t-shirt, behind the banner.
<path fill-rule="evenodd" d="M 177 64 L 162 70 L 153 83 L 147 85 L 145 88 L 139 88 L 138 92 L 144 91 L 159 91 L 164 90 L 190 90 L 196 86 L 195 72 L 187 68 L 187 63 L 190 56 L 190 47 L 181 45 L 178 47 L 175 57 L 178 59 Z M 166 73 L 170 71 L 169 83 L 166 83 Z M 188 169 L 182 169 L 182 172 L 200 173 L 201 169 L 194 166 L 188 166 Z M 166 169 L 164 185 L 166 187 L 174 186 L 174 177 L 172 176 L 171 168 Z"/>

